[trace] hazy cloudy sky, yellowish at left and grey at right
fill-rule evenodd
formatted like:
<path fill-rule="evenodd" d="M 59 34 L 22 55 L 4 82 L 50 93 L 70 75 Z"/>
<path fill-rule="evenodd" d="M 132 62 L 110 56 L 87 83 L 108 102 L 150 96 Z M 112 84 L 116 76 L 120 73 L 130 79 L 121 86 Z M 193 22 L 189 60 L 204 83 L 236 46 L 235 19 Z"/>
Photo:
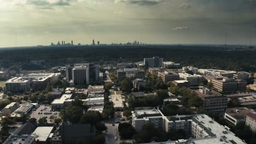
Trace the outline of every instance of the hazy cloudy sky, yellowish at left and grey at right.
<path fill-rule="evenodd" d="M 0 0 L 0 47 L 256 44 L 255 32 L 256 0 Z"/>

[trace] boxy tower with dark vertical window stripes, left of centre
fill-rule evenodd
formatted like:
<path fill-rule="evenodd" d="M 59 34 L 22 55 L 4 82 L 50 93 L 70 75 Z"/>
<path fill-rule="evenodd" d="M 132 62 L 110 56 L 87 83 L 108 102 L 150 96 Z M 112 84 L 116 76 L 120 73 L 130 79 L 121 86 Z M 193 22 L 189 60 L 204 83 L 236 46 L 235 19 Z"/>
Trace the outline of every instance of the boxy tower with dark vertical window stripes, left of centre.
<path fill-rule="evenodd" d="M 87 85 L 89 84 L 89 68 L 85 66 L 74 67 L 72 69 L 72 81 L 74 85 Z"/>

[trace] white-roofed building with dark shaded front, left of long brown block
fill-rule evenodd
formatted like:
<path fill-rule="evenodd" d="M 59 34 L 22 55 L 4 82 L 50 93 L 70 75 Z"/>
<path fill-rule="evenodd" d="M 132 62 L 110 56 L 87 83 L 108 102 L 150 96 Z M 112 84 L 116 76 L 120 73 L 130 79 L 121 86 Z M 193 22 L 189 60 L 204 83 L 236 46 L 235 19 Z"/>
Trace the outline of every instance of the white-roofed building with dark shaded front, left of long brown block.
<path fill-rule="evenodd" d="M 190 86 L 199 86 L 202 82 L 201 75 L 191 75 L 188 73 L 179 73 L 179 77 L 189 82 Z"/>

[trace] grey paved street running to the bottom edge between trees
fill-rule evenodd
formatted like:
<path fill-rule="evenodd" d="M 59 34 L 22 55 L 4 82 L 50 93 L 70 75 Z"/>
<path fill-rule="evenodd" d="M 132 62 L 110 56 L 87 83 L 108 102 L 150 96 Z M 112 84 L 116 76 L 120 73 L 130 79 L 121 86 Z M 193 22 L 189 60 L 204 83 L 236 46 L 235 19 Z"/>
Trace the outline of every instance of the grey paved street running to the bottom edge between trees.
<path fill-rule="evenodd" d="M 106 127 L 108 128 L 108 132 L 106 133 L 106 143 L 107 144 L 119 144 L 120 143 L 120 136 L 118 133 L 118 123 L 115 123 L 117 121 L 117 116 L 115 115 L 115 118 L 109 119 L 106 122 Z M 115 124 L 114 126 L 112 124 Z M 117 137 L 118 139 L 115 140 L 114 138 Z"/>

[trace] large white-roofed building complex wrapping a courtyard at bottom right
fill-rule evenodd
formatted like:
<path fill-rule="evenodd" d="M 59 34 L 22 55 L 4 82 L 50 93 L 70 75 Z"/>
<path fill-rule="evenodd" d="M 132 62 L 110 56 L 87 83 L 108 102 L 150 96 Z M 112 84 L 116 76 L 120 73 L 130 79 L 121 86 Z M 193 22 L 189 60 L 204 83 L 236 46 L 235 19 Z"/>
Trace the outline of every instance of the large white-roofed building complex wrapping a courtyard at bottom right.
<path fill-rule="evenodd" d="M 245 144 L 245 141 L 235 136 L 230 131 L 230 128 L 220 125 L 211 117 L 200 115 L 177 115 L 177 116 L 164 116 L 160 110 L 145 109 L 132 111 L 132 126 L 136 131 L 141 130 L 144 123 L 152 122 L 155 127 L 158 127 L 164 131 L 170 131 L 171 129 L 184 130 L 191 136 L 188 140 L 166 141 L 166 142 L 150 142 L 150 144 L 193 144 L 193 143 L 241 143 Z"/>

